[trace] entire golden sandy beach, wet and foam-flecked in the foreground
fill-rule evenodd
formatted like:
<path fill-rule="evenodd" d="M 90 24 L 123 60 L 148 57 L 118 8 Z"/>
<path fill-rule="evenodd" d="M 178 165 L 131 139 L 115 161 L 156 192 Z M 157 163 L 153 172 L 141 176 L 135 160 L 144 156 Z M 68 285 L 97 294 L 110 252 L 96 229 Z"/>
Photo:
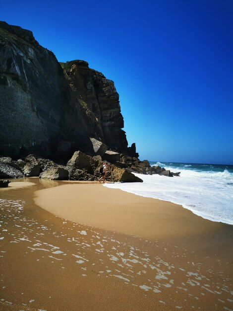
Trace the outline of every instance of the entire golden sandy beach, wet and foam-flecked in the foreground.
<path fill-rule="evenodd" d="M 0 310 L 233 309 L 232 226 L 100 184 L 24 182 L 0 190 Z"/>

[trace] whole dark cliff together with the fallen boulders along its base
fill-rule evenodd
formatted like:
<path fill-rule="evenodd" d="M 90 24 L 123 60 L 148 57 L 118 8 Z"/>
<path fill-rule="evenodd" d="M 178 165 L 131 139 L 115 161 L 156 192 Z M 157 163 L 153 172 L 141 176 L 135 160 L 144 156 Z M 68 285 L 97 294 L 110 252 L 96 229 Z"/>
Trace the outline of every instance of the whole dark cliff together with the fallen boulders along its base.
<path fill-rule="evenodd" d="M 85 61 L 58 63 L 30 30 L 0 21 L 0 178 L 96 180 L 103 160 L 110 181 L 174 175 L 140 161 L 123 127 L 112 80 Z"/>

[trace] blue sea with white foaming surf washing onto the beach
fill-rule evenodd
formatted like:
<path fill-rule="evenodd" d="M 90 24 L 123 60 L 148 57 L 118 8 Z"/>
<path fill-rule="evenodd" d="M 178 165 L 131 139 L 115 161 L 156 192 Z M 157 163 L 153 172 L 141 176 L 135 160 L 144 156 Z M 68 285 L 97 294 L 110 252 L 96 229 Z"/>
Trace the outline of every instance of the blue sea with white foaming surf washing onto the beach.
<path fill-rule="evenodd" d="M 135 174 L 143 183 L 105 184 L 144 197 L 182 205 L 214 222 L 233 225 L 233 165 L 150 162 L 180 177 Z"/>

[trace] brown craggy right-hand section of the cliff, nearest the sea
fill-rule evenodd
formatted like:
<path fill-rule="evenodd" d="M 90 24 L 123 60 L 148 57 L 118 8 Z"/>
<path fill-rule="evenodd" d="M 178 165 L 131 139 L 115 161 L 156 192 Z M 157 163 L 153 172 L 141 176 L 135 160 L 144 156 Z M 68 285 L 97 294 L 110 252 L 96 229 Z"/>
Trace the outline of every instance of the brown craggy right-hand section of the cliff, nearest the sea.
<path fill-rule="evenodd" d="M 61 63 L 64 75 L 72 89 L 71 100 L 79 100 L 89 118 L 87 131 L 109 148 L 127 152 L 123 117 L 120 113 L 119 94 L 112 80 L 90 69 L 84 61 Z M 87 124 L 86 124 L 87 126 Z M 86 150 L 88 152 L 88 150 Z"/>

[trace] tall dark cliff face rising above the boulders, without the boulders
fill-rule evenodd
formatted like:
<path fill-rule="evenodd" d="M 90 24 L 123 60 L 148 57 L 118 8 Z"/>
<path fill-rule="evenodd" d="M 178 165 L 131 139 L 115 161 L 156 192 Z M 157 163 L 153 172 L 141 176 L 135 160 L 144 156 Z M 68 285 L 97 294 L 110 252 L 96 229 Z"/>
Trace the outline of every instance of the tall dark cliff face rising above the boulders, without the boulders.
<path fill-rule="evenodd" d="M 53 157 L 63 141 L 70 153 L 91 153 L 93 137 L 135 156 L 118 97 L 114 82 L 88 63 L 59 64 L 31 31 L 0 22 L 0 155 Z"/>

